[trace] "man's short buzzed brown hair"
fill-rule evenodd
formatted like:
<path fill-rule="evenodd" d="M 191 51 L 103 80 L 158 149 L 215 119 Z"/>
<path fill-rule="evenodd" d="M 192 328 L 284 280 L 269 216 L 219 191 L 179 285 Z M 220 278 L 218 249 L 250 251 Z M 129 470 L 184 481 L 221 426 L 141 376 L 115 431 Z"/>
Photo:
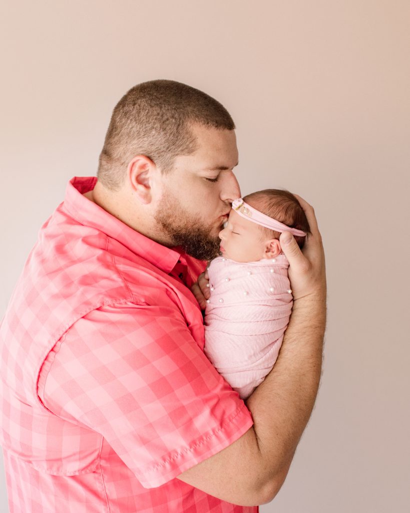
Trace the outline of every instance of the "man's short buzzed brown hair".
<path fill-rule="evenodd" d="M 196 148 L 192 124 L 234 130 L 226 108 L 208 94 L 172 80 L 153 80 L 130 89 L 111 116 L 99 157 L 98 180 L 118 190 L 136 155 L 148 156 L 162 172 L 177 155 Z"/>

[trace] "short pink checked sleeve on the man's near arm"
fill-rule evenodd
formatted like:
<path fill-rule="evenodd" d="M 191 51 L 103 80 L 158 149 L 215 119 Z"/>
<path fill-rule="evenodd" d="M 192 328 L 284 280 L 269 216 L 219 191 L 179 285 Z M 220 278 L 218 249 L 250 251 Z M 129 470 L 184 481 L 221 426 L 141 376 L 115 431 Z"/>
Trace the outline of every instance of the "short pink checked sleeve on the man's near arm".
<path fill-rule="evenodd" d="M 100 433 L 146 488 L 213 456 L 253 424 L 171 308 L 93 310 L 70 328 L 51 361 L 45 406 Z"/>

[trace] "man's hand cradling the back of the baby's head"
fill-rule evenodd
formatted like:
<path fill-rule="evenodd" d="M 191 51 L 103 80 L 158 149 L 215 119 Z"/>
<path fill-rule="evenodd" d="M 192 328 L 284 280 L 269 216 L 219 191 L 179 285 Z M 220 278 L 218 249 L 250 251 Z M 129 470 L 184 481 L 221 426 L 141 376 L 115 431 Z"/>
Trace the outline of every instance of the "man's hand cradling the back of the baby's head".
<path fill-rule="evenodd" d="M 326 276 L 322 238 L 319 233 L 315 212 L 309 203 L 295 194 L 308 218 L 311 234 L 300 250 L 290 232 L 280 234 L 280 246 L 289 260 L 289 279 L 294 301 L 308 295 L 320 299 L 326 297 Z"/>

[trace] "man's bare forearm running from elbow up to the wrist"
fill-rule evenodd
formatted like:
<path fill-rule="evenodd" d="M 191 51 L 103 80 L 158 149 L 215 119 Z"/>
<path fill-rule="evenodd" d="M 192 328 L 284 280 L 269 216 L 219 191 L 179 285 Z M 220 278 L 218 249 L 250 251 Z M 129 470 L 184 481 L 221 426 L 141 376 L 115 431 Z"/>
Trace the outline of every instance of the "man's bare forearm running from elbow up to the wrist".
<path fill-rule="evenodd" d="M 279 357 L 247 400 L 263 466 L 261 477 L 273 489 L 280 488 L 313 409 L 325 320 L 324 294 L 295 301 Z"/>

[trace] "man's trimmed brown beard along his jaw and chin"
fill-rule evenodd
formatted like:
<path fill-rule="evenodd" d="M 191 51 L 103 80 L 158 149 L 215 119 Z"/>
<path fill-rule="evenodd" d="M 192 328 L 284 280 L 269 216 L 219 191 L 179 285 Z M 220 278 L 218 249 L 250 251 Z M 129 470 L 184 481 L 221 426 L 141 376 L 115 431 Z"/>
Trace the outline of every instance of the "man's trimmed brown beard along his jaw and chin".
<path fill-rule="evenodd" d="M 162 196 L 161 209 L 155 213 L 154 219 L 171 239 L 172 247 L 181 246 L 183 251 L 198 260 L 212 260 L 220 255 L 219 237 L 210 234 L 212 226 L 203 226 L 199 218 L 190 216 L 169 193 Z"/>

